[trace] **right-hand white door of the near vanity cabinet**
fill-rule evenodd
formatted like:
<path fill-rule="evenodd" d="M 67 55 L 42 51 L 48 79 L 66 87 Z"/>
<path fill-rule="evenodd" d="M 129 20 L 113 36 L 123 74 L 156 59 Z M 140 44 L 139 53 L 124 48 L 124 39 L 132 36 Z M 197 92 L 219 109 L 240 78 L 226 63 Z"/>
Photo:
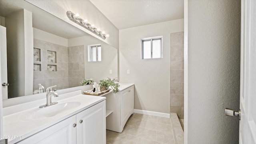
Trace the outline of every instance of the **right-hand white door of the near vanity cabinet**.
<path fill-rule="evenodd" d="M 106 144 L 106 100 L 76 114 L 77 144 Z"/>

